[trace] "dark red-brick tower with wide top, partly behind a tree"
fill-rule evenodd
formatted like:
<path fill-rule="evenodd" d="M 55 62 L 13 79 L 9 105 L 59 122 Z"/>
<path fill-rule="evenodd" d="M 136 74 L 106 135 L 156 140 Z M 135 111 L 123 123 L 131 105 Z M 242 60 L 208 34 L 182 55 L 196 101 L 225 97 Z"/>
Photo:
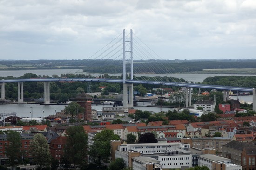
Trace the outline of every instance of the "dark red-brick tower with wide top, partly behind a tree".
<path fill-rule="evenodd" d="M 79 116 L 83 120 L 92 120 L 92 97 L 89 94 L 82 92 L 78 94 L 74 101 L 84 108 L 83 113 Z"/>

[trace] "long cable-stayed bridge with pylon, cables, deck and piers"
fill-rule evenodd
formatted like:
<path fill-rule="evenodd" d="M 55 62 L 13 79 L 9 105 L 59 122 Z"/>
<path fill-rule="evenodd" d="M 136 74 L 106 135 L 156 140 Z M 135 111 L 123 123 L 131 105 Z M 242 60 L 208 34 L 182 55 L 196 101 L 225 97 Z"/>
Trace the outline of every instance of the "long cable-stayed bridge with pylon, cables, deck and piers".
<path fill-rule="evenodd" d="M 122 37 L 120 38 L 120 36 Z M 91 67 L 97 66 L 98 63 L 95 63 L 95 59 L 112 59 L 113 63 L 115 63 L 118 58 L 121 57 L 122 61 L 122 70 L 123 70 L 123 79 L 106 79 L 106 78 L 33 78 L 33 79 L 8 79 L 8 80 L 0 80 L 0 88 L 1 88 L 1 98 L 5 99 L 4 93 L 4 83 L 8 82 L 18 82 L 18 102 L 23 102 L 23 82 L 44 82 L 44 96 L 45 96 L 45 104 L 49 104 L 50 102 L 50 83 L 49 82 L 69 82 L 69 81 L 78 81 L 78 82 L 114 82 L 114 83 L 123 83 L 123 105 L 124 109 L 133 107 L 133 84 L 155 84 L 155 85 L 167 85 L 167 86 L 178 86 L 184 87 L 186 92 L 186 107 L 191 106 L 191 92 L 192 88 L 208 88 L 208 89 L 218 89 L 223 90 L 224 100 L 229 99 L 229 90 L 231 91 L 239 91 L 239 92 L 252 92 L 253 93 L 253 110 L 256 111 L 256 93 L 255 88 L 243 88 L 243 87 L 231 87 L 231 86 L 218 86 L 218 85 L 206 85 L 206 84 L 194 84 L 194 83 L 184 83 L 180 80 L 167 82 L 162 79 L 158 80 L 146 80 L 141 77 L 141 80 L 134 80 L 134 58 L 135 59 L 160 59 L 159 56 L 154 56 L 154 52 L 152 54 L 151 49 L 146 50 L 137 40 L 134 41 L 133 31 L 130 31 L 130 34 L 126 34 L 125 30 L 123 33 L 119 35 L 115 40 L 115 43 L 108 44 L 105 47 L 107 49 L 102 48 L 97 51 L 94 55 L 89 57 L 89 59 L 94 59 L 91 62 L 85 63 L 85 65 L 90 65 Z M 134 48 L 134 44 L 136 47 Z M 142 43 L 143 44 L 143 43 Z M 147 46 L 146 46 L 147 47 Z M 150 58 L 151 57 L 151 58 Z M 153 58 L 152 58 L 153 57 Z M 120 62 L 119 62 L 120 63 Z M 109 67 L 111 67 L 111 63 L 108 63 Z M 119 67 L 121 67 L 119 65 Z M 152 68 L 148 67 L 136 67 L 135 71 L 139 73 L 143 72 L 154 72 L 162 73 L 164 71 L 168 71 L 168 68 L 164 64 L 154 64 Z M 137 73 L 138 73 L 137 72 Z M 127 75 L 130 75 L 127 78 Z"/>

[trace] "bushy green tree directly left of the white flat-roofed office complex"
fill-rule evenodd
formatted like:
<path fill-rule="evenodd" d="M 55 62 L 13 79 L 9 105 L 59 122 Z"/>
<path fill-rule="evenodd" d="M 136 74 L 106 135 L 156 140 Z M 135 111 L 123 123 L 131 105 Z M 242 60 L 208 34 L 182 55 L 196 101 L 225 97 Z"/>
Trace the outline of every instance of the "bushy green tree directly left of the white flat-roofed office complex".
<path fill-rule="evenodd" d="M 110 157 L 110 140 L 119 140 L 119 136 L 115 135 L 112 130 L 102 130 L 97 133 L 93 139 L 93 145 L 89 147 L 89 155 L 92 160 L 101 166 L 101 161 L 107 161 Z"/>

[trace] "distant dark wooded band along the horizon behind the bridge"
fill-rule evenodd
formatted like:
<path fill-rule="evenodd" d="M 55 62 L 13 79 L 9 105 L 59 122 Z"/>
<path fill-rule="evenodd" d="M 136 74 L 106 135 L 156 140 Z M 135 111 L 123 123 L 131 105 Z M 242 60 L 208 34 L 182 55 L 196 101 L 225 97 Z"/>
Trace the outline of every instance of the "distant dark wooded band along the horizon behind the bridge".
<path fill-rule="evenodd" d="M 122 60 L 0 60 L 0 70 L 83 69 L 90 73 L 122 73 Z M 256 68 L 256 60 L 134 60 L 134 73 L 185 73 L 203 69 Z M 129 69 L 129 68 L 127 68 Z"/>

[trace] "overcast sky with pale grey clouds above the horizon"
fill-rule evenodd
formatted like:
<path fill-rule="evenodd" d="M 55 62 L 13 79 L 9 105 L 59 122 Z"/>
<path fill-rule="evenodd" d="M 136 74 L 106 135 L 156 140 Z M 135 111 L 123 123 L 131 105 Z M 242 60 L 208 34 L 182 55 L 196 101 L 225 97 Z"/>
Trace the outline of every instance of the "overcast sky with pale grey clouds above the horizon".
<path fill-rule="evenodd" d="M 0 0 L 0 59 L 86 59 L 123 29 L 162 59 L 256 59 L 256 0 Z"/>

